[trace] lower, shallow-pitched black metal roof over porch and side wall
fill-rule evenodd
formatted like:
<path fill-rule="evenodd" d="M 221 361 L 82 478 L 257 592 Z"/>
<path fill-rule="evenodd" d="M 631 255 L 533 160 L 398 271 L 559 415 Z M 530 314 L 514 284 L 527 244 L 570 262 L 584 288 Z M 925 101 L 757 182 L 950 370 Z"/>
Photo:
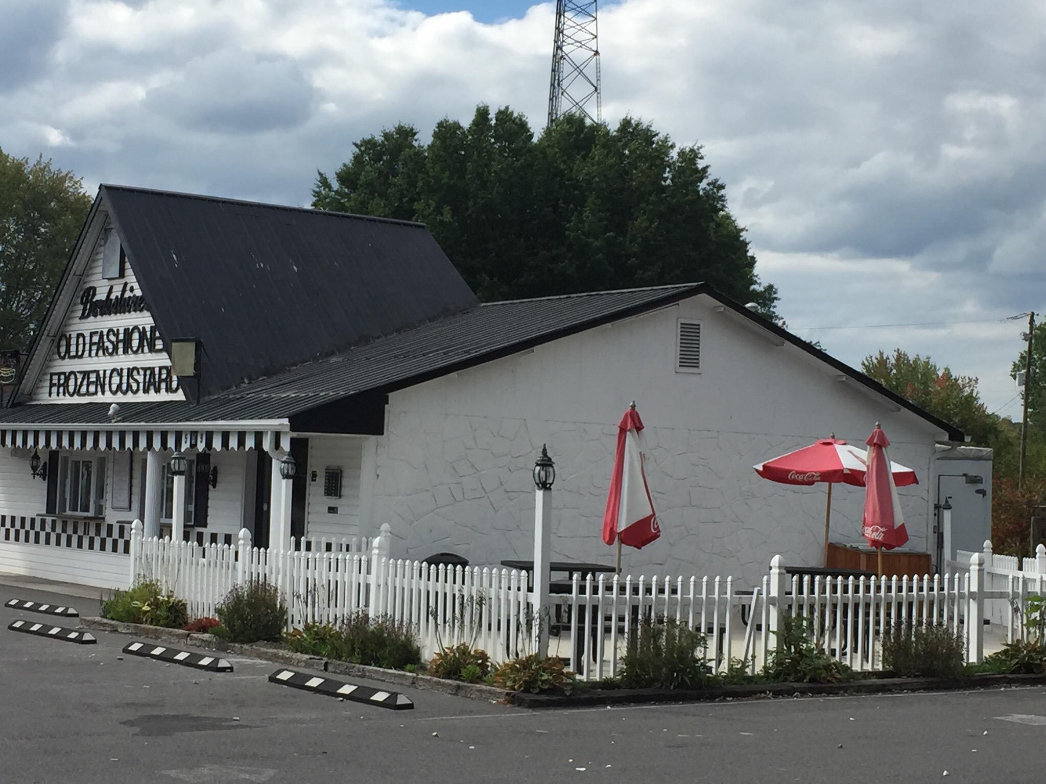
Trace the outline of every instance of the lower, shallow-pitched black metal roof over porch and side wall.
<path fill-rule="evenodd" d="M 376 402 L 376 395 L 381 397 L 698 295 L 707 295 L 748 320 L 752 326 L 800 348 L 872 392 L 911 411 L 947 433 L 950 440 L 964 440 L 959 429 L 704 283 L 475 305 L 213 395 L 198 405 L 170 401 L 121 403 L 121 418 L 124 422 L 158 423 L 290 420 L 291 429 L 295 430 L 295 420 L 304 418 L 309 412 L 324 409 L 329 412 L 336 403 L 341 408 L 351 408 L 350 399 L 370 405 Z M 104 424 L 109 421 L 108 403 L 73 406 L 76 422 Z M 69 403 L 23 406 L 0 412 L 0 421 L 71 424 L 70 408 Z M 310 419 L 310 422 L 315 422 L 315 419 Z"/>

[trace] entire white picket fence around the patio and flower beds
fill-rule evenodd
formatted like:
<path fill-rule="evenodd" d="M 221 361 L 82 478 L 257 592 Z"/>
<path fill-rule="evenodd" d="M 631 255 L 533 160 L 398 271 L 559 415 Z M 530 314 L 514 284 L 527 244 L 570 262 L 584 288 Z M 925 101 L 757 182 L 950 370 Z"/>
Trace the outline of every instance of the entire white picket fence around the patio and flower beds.
<path fill-rule="evenodd" d="M 800 578 L 788 574 L 780 556 L 751 590 L 738 590 L 732 577 L 574 575 L 570 593 L 539 610 L 526 572 L 392 559 L 390 538 L 383 526 L 373 539 L 277 553 L 251 547 L 246 530 L 235 546 L 200 547 L 143 540 L 136 523 L 131 577 L 160 580 L 187 601 L 194 618 L 215 615 L 237 583 L 269 582 L 287 603 L 288 629 L 366 612 L 413 627 L 426 659 L 468 642 L 504 662 L 535 649 L 537 621 L 547 625 L 550 652 L 588 681 L 618 674 L 638 625 L 661 618 L 704 635 L 701 654 L 720 673 L 759 669 L 790 616 L 804 618 L 810 636 L 858 671 L 883 668 L 888 630 L 931 624 L 962 635 L 968 661 L 979 662 L 983 620 L 998 614 L 1007 640 L 1024 638 L 1025 600 L 1046 587 L 1046 548 L 1018 564 L 985 543 L 985 552 L 960 554 L 945 576 Z"/>

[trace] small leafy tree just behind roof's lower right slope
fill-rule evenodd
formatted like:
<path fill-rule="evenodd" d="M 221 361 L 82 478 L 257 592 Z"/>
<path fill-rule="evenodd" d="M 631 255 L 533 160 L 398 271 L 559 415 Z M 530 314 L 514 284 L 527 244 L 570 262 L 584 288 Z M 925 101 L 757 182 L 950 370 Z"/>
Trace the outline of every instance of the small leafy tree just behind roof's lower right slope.
<path fill-rule="evenodd" d="M 999 435 L 998 417 L 988 412 L 977 391 L 977 378 L 954 375 L 929 356 L 896 349 L 866 356 L 861 369 L 892 392 L 971 437 L 973 444 L 990 446 Z"/>

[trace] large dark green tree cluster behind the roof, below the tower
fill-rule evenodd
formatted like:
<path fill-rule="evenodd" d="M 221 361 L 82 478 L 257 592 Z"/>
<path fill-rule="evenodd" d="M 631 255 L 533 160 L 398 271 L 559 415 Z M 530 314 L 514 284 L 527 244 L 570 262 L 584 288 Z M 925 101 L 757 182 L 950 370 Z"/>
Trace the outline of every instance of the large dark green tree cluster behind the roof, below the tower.
<path fill-rule="evenodd" d="M 649 123 L 566 116 L 535 138 L 523 115 L 480 106 L 428 144 L 400 124 L 354 148 L 318 172 L 313 206 L 425 222 L 483 300 L 704 280 L 773 315 L 701 147 Z"/>

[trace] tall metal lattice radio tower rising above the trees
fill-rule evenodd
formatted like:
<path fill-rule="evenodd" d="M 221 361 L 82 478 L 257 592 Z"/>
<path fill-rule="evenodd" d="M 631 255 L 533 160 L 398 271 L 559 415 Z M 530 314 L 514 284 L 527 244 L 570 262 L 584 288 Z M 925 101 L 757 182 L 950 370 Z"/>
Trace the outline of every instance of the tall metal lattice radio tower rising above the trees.
<path fill-rule="evenodd" d="M 548 124 L 565 114 L 602 121 L 597 0 L 556 0 Z"/>

